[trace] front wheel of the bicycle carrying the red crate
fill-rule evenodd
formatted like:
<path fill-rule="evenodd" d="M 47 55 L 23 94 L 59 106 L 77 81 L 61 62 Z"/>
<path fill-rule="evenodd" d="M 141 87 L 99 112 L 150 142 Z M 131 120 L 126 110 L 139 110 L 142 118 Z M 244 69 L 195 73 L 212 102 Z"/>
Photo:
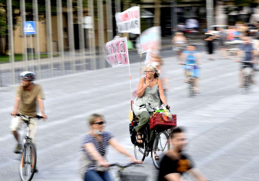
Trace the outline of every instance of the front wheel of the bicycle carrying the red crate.
<path fill-rule="evenodd" d="M 154 166 L 159 169 L 160 162 L 164 155 L 167 154 L 167 151 L 170 150 L 170 141 L 167 132 L 161 131 L 158 133 L 156 138 L 154 139 L 153 149 L 152 149 L 152 159 Z M 160 157 L 159 160 L 155 159 L 154 154 L 156 153 L 157 156 Z"/>

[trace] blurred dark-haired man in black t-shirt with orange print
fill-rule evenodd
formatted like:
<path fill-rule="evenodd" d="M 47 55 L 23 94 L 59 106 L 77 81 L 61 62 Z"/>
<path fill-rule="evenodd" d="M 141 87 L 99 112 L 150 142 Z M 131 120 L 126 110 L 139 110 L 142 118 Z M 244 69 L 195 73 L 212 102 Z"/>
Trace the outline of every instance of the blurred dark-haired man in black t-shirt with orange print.
<path fill-rule="evenodd" d="M 160 163 L 158 181 L 183 181 L 184 172 L 190 172 L 199 181 L 208 181 L 197 169 L 187 154 L 182 152 L 187 143 L 183 128 L 177 127 L 170 135 L 173 150 L 168 151 Z"/>

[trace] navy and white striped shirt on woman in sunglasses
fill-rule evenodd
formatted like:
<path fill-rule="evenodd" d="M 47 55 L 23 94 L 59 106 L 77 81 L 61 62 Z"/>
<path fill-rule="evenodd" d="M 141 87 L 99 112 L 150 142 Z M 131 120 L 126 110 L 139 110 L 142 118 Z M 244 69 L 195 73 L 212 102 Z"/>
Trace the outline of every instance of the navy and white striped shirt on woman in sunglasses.
<path fill-rule="evenodd" d="M 89 171 L 89 170 L 96 170 L 98 167 L 98 163 L 96 162 L 96 160 L 91 156 L 91 154 L 89 154 L 88 150 L 84 148 L 85 144 L 88 143 L 93 143 L 96 150 L 99 152 L 99 154 L 102 157 L 105 157 L 105 153 L 108 150 L 108 146 L 109 146 L 109 140 L 112 139 L 114 136 L 112 133 L 108 132 L 108 131 L 104 131 L 101 134 L 102 140 L 99 141 L 96 139 L 95 136 L 91 135 L 91 134 L 87 134 L 84 135 L 82 137 L 82 142 L 81 142 L 81 151 L 83 153 L 85 153 L 86 155 L 86 159 L 89 162 L 89 164 L 84 168 L 83 172 Z"/>

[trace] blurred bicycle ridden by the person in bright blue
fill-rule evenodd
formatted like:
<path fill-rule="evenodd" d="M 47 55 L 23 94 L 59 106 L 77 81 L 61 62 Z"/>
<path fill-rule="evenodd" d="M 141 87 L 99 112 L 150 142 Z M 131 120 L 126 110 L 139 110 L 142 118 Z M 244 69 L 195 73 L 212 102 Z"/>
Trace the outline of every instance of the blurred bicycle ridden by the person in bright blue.
<path fill-rule="evenodd" d="M 194 96 L 195 93 L 197 93 L 197 90 L 195 90 L 195 77 L 194 77 L 194 66 L 198 66 L 199 64 L 196 63 L 191 63 L 191 64 L 186 64 L 182 63 L 182 65 L 186 66 L 186 76 L 187 80 L 186 82 L 189 84 L 188 86 L 188 95 L 190 97 Z"/>

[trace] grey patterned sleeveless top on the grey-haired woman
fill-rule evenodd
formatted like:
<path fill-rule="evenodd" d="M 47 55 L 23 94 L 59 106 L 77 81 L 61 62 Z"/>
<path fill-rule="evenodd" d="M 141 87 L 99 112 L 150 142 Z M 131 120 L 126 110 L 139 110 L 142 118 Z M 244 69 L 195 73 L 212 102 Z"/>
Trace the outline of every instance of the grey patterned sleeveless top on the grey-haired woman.
<path fill-rule="evenodd" d="M 146 78 L 145 78 L 145 82 L 146 82 Z M 143 85 L 145 85 L 145 83 Z M 160 107 L 160 99 L 158 97 L 157 91 L 158 91 L 158 85 L 156 84 L 151 88 L 147 87 L 142 97 L 136 98 L 133 106 L 135 115 L 138 116 L 142 111 L 149 111 L 149 112 L 153 111 L 150 107 L 146 107 L 146 109 L 143 108 L 139 110 L 140 108 L 139 106 L 147 102 L 151 104 L 151 107 Z"/>

